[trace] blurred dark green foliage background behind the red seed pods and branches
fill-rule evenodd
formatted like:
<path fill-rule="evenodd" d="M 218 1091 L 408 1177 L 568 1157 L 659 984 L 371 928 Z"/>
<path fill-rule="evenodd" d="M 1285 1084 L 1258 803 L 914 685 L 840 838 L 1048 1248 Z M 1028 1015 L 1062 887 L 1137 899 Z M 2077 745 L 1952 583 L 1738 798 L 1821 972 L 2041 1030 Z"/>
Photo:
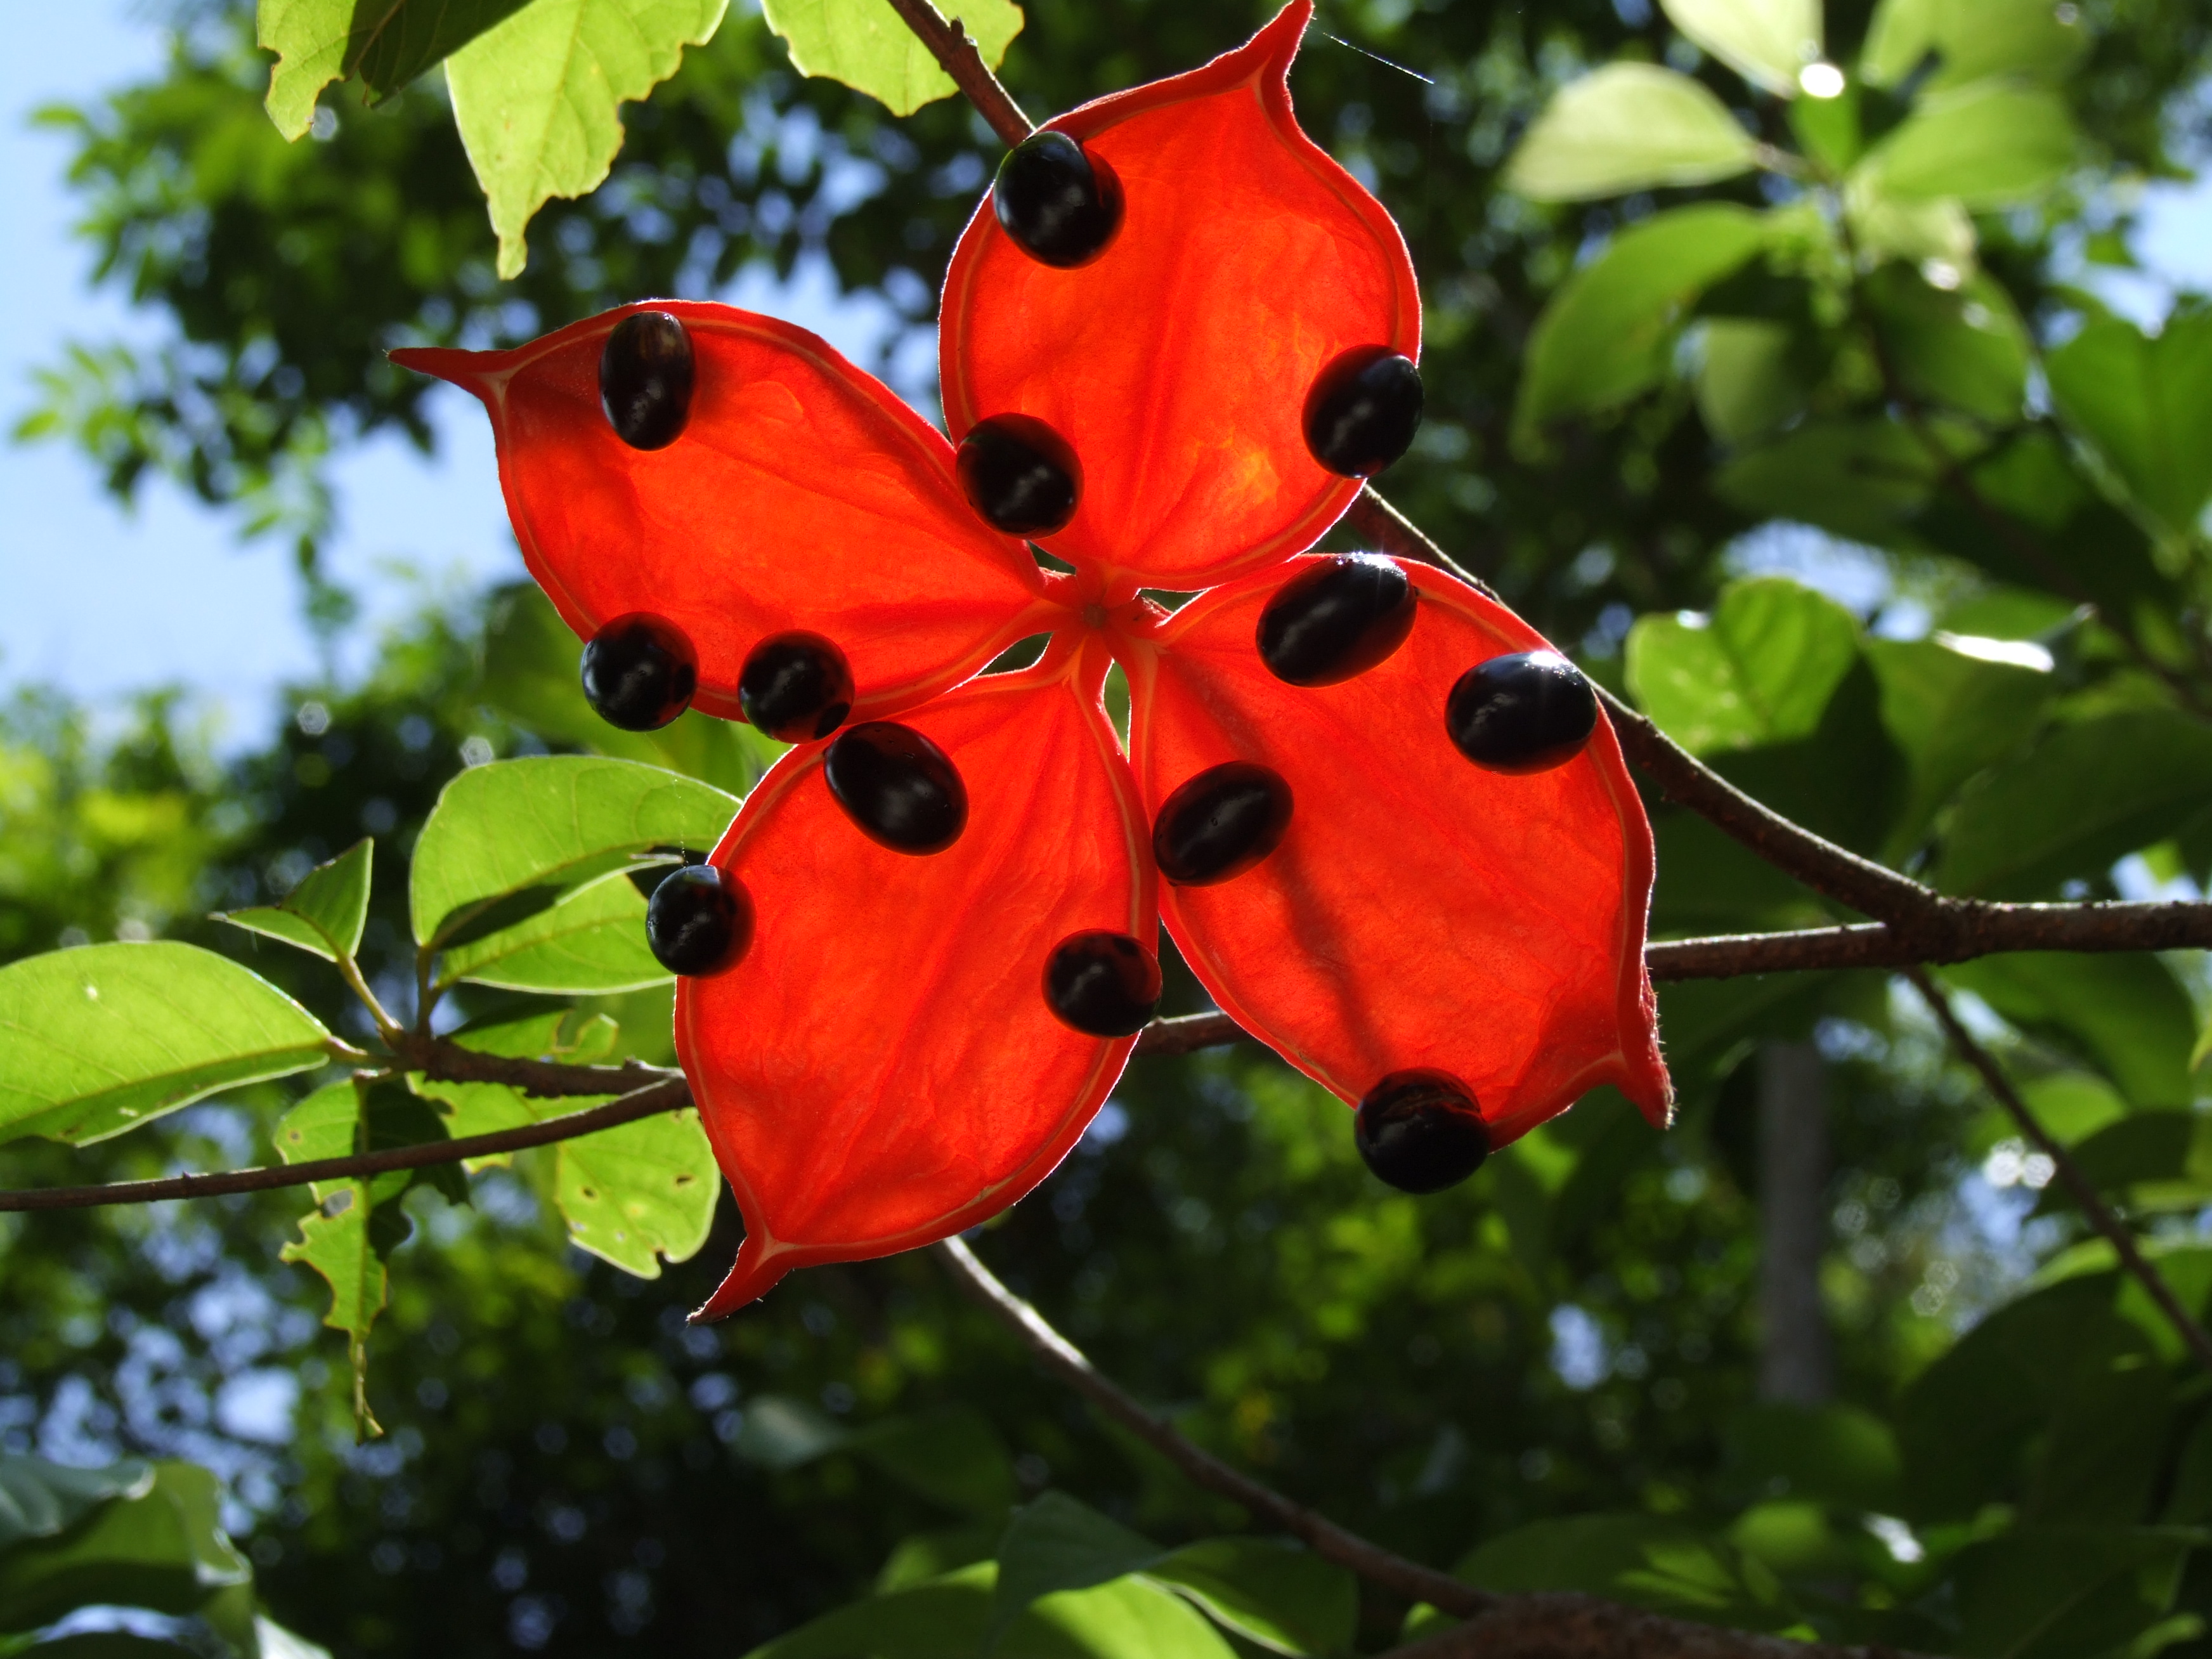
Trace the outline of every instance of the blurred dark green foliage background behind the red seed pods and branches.
<path fill-rule="evenodd" d="M 2212 15 L 2059 11 L 2081 44 L 2037 84 L 2079 146 L 1960 208 L 1964 246 L 1947 219 L 1936 252 L 1854 250 L 1820 204 L 1860 139 L 1938 91 L 1854 86 L 1847 142 L 1648 0 L 1334 0 L 1292 86 L 1422 276 L 1429 416 L 1385 480 L 1416 522 L 1823 834 L 1955 891 L 2181 894 L 2212 863 L 2212 352 L 2194 345 L 2212 321 L 2183 296 L 2146 334 L 2081 272 L 2124 265 L 2137 186 L 2212 146 Z M 1261 18 L 1031 0 L 1002 73 L 1057 111 Z M 1860 60 L 1869 20 L 1836 0 L 1834 62 Z M 998 155 L 956 102 L 894 119 L 794 75 L 732 9 L 628 106 L 608 184 L 551 204 L 502 283 L 436 73 L 376 111 L 332 91 L 288 146 L 248 9 L 201 0 L 164 27 L 159 80 L 55 119 L 100 281 L 166 319 L 166 343 L 77 343 L 22 436 L 71 445 L 117 493 L 168 473 L 243 533 L 292 538 L 327 628 L 349 615 L 316 577 L 332 456 L 387 427 L 434 436 L 392 345 L 513 343 L 818 254 L 905 319 L 874 367 L 933 396 L 936 288 Z M 1694 188 L 1509 190 L 1546 100 L 1615 60 L 1692 75 L 1807 159 Z M 1692 201 L 1761 215 L 1756 250 L 1630 292 L 1610 356 L 1546 369 L 1546 307 Z M 1540 369 L 1553 392 L 1531 407 Z M 1790 571 L 1827 588 L 1840 571 L 1863 597 Z M 206 911 L 270 902 L 374 834 L 363 967 L 407 1009 L 405 856 L 465 765 L 597 745 L 750 781 L 759 757 L 697 714 L 659 748 L 617 745 L 573 692 L 573 653 L 535 593 L 478 595 L 385 639 L 367 677 L 294 688 L 268 741 L 226 761 L 175 699 L 95 737 L 115 723 L 18 690 L 0 953 L 195 940 L 363 1037 L 332 975 Z M 1655 818 L 1657 931 L 1829 916 L 1705 825 Z M 2203 964 L 2020 958 L 1949 982 L 2203 1307 Z M 1188 973 L 1170 987 L 1166 1011 L 1201 1006 Z M 655 1060 L 664 1009 L 655 991 L 604 1006 Z M 1259 1048 L 1139 1062 L 978 1250 L 1203 1444 L 1504 1588 L 1929 1652 L 2212 1652 L 2192 1531 L 2212 1522 L 2212 1391 L 1909 1000 L 1869 973 L 1692 984 L 1668 989 L 1663 1026 L 1672 1133 L 1593 1097 L 1420 1201 L 1376 1183 L 1340 1106 Z M 288 1102 L 261 1086 L 86 1150 L 15 1141 L 0 1179 L 263 1161 Z M 1774 1177 L 1790 1137 L 1814 1146 L 1809 1186 Z M 347 1657 L 743 1652 L 874 1584 L 989 1557 L 1009 1504 L 1046 1489 L 1170 1544 L 1237 1526 L 1035 1376 L 931 1259 L 810 1270 L 686 1327 L 734 1212 L 637 1279 L 566 1243 L 551 1157 L 480 1175 L 469 1208 L 409 1199 L 369 1367 L 389 1433 L 369 1444 L 323 1285 L 279 1261 L 296 1194 L 9 1217 L 0 1451 L 217 1471 L 268 1608 Z M 1805 1214 L 1809 1327 L 1761 1314 L 1776 1228 Z M 1405 1617 L 1363 1590 L 1358 1648 Z"/>

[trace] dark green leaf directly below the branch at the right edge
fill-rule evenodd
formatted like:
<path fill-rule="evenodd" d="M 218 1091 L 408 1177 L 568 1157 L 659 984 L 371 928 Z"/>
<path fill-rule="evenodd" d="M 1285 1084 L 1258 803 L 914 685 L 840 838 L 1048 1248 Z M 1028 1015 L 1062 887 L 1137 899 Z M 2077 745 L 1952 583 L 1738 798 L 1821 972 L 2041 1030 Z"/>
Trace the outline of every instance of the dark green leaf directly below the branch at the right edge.
<path fill-rule="evenodd" d="M 2197 1009 L 2157 956 L 1984 956 L 1942 971 L 2017 1026 L 2059 1033 L 2137 1108 L 2185 1108 Z"/>

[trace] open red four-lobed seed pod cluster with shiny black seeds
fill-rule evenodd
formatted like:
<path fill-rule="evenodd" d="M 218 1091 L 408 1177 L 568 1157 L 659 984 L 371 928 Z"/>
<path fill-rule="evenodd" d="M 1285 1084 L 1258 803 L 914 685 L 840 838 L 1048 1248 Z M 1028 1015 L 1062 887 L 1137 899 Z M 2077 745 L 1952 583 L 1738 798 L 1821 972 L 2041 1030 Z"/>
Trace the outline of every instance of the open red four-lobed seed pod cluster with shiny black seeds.
<path fill-rule="evenodd" d="M 1666 1119 L 1588 681 L 1438 571 L 1303 553 L 1422 407 L 1402 239 L 1290 115 L 1307 13 L 1009 153 L 947 276 L 958 445 L 719 305 L 398 354 L 489 407 L 608 721 L 796 745 L 648 907 L 748 1223 L 703 1316 L 1033 1188 L 1159 1006 L 1161 918 L 1396 1188 L 1604 1082 Z"/>

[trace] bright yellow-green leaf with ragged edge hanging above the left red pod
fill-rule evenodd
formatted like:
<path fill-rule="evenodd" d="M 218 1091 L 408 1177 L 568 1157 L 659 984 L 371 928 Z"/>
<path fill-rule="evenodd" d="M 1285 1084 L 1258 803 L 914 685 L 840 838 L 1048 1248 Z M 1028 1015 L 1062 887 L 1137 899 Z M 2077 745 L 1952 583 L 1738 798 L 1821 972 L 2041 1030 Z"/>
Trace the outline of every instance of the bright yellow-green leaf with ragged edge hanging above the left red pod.
<path fill-rule="evenodd" d="M 599 188 L 622 150 L 619 108 L 712 40 L 728 0 L 531 0 L 445 60 L 453 124 L 491 206 L 502 279 L 553 197 Z"/>

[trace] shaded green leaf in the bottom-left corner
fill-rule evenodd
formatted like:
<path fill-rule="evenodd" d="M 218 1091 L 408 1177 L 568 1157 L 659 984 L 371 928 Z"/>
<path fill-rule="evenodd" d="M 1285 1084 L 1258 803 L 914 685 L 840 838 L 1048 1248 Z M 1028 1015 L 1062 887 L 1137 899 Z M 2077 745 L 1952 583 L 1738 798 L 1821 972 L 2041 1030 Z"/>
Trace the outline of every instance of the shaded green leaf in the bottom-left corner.
<path fill-rule="evenodd" d="M 0 1553 L 0 1630 L 35 1630 L 80 1606 L 195 1615 L 252 1571 L 217 1526 L 215 1475 L 159 1462 L 69 1531 Z"/>

